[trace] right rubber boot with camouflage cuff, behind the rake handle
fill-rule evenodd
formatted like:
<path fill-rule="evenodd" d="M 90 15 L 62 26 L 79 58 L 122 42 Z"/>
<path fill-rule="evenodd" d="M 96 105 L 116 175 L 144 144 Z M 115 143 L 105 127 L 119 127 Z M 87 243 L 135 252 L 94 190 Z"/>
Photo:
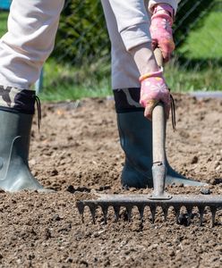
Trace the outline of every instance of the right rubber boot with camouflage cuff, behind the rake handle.
<path fill-rule="evenodd" d="M 140 88 L 115 89 L 115 110 L 121 147 L 125 154 L 121 182 L 124 187 L 151 188 L 152 123 L 139 104 Z M 166 185 L 204 186 L 175 172 L 166 158 Z"/>

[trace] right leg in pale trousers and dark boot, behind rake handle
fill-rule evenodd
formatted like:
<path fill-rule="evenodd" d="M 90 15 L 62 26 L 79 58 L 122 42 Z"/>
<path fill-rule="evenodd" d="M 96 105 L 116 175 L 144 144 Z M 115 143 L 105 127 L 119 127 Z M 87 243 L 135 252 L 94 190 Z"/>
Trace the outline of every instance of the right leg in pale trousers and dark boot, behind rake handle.
<path fill-rule="evenodd" d="M 135 188 L 152 187 L 152 125 L 143 113 L 140 101 L 140 73 L 125 49 L 118 32 L 115 15 L 107 0 L 102 0 L 107 29 L 112 45 L 112 87 L 121 146 L 125 154 L 122 185 Z M 175 172 L 166 160 L 166 185 L 199 186 Z"/>

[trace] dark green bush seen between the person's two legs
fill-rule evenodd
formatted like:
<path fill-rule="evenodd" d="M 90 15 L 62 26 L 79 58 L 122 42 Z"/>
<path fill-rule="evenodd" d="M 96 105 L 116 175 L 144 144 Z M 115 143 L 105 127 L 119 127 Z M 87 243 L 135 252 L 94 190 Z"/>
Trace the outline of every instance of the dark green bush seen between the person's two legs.
<path fill-rule="evenodd" d="M 109 39 L 100 0 L 67 0 L 58 36 L 55 43 L 58 61 L 88 64 L 93 63 L 95 57 L 109 57 Z"/>

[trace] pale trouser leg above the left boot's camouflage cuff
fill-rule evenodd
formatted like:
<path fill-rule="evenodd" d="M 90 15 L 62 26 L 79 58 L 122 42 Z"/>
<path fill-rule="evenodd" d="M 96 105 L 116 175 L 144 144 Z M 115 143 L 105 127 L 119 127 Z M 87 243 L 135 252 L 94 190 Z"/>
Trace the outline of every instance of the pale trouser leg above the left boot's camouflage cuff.
<path fill-rule="evenodd" d="M 0 85 L 30 89 L 55 43 L 64 0 L 13 0 L 0 39 Z"/>

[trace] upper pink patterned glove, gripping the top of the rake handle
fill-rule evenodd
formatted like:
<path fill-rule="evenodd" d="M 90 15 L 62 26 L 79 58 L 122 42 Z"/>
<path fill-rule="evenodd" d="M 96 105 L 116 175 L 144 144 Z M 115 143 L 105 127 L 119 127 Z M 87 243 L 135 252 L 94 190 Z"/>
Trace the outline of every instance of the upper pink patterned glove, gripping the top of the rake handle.
<path fill-rule="evenodd" d="M 157 4 L 149 28 L 153 49 L 160 48 L 165 62 L 170 59 L 171 53 L 175 50 L 172 34 L 173 16 L 174 9 L 169 4 Z"/>

